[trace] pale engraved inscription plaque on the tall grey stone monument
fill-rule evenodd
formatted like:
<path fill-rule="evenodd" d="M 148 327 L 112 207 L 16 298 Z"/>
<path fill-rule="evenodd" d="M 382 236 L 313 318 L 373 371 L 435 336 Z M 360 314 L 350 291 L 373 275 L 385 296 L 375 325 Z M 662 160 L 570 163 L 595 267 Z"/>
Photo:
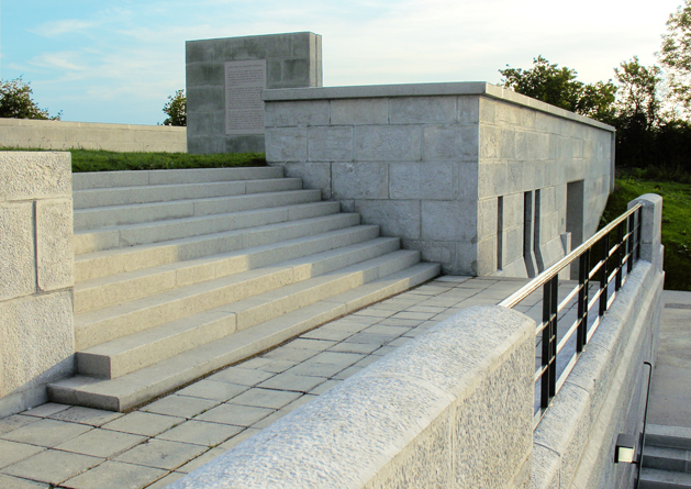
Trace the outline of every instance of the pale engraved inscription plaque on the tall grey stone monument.
<path fill-rule="evenodd" d="M 264 134 L 266 59 L 225 63 L 225 134 Z"/>

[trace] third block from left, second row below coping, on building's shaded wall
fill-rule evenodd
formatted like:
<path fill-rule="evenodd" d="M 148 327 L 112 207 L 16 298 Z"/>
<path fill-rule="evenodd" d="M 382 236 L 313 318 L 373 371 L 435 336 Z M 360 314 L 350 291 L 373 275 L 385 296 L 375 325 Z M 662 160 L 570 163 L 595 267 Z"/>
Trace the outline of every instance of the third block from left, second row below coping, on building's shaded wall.
<path fill-rule="evenodd" d="M 415 125 L 355 126 L 355 159 L 417 162 L 422 159 L 422 130 Z"/>

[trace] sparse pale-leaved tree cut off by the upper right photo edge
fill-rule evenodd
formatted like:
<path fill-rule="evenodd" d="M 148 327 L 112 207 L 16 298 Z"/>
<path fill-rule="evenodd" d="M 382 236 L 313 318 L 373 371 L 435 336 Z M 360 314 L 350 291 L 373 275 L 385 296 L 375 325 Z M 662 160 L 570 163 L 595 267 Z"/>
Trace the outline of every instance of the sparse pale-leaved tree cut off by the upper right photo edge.
<path fill-rule="evenodd" d="M 684 112 L 691 111 L 691 0 L 669 15 L 662 35 L 660 63 L 668 69 L 669 98 Z"/>

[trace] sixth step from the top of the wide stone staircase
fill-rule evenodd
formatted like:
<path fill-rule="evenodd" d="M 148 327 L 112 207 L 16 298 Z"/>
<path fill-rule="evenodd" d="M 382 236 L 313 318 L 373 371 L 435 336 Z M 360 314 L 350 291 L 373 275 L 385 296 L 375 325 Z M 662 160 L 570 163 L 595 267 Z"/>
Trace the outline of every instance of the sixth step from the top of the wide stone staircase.
<path fill-rule="evenodd" d="M 145 296 L 151 296 L 152 293 L 140 293 L 140 294 L 130 294 L 123 299 L 123 294 L 119 294 L 116 298 L 112 299 L 110 302 L 104 302 L 99 304 L 98 308 L 87 308 L 86 305 L 80 304 L 81 294 L 90 294 L 92 290 L 97 290 L 100 288 L 112 288 L 112 287 L 135 287 L 135 289 L 140 290 L 136 287 L 137 282 L 146 281 L 153 279 L 156 276 L 168 276 L 170 274 L 176 275 L 176 285 L 175 287 L 159 287 L 156 289 L 155 293 L 160 293 L 166 290 L 171 290 L 177 287 L 186 287 L 189 285 L 199 284 L 207 280 L 214 280 L 220 278 L 220 275 L 215 274 L 211 276 L 211 271 L 208 273 L 191 273 L 191 270 L 201 267 L 202 269 L 212 268 L 214 264 L 221 264 L 225 262 L 237 262 L 237 266 L 233 269 L 233 274 L 238 274 L 243 271 L 247 271 L 250 269 L 261 268 L 270 265 L 278 264 L 288 259 L 297 259 L 310 254 L 314 253 L 323 253 L 331 249 L 337 249 L 345 246 L 350 246 L 354 244 L 363 243 L 366 241 L 371 241 L 378 238 L 379 227 L 376 225 L 359 225 L 359 226 L 350 226 L 343 227 L 338 230 L 327 231 L 325 233 L 313 234 L 310 236 L 301 236 L 291 240 L 286 240 L 278 243 L 253 246 L 244 249 L 235 249 L 232 252 L 224 253 L 215 253 L 212 255 L 202 256 L 199 258 L 192 258 L 183 262 L 174 262 L 166 265 L 158 265 L 148 268 L 140 268 L 133 271 L 126 271 L 121 274 L 108 275 L 104 277 L 93 278 L 89 280 L 83 280 L 75 284 L 75 313 L 89 312 L 96 309 L 102 309 L 109 305 L 113 305 L 114 303 L 122 300 L 135 300 Z M 342 244 L 332 244 L 336 237 L 347 237 L 345 243 Z M 299 249 L 294 249 L 300 246 L 317 246 L 319 251 L 311 251 L 309 247 L 304 249 L 304 253 L 300 253 Z M 281 251 L 291 251 L 287 258 L 280 256 Z M 265 259 L 257 263 L 263 255 L 272 255 L 270 257 L 266 257 Z M 252 265 L 252 266 L 250 266 Z M 180 285 L 180 280 L 177 277 L 178 274 L 190 273 L 191 276 L 189 279 L 186 279 L 183 284 Z"/>

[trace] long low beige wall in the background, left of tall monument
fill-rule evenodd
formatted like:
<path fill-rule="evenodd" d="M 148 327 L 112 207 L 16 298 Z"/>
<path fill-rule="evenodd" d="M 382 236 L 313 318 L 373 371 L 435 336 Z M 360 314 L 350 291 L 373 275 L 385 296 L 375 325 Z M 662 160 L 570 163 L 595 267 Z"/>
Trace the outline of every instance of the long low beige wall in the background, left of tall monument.
<path fill-rule="evenodd" d="M 0 147 L 185 153 L 187 129 L 0 119 Z"/>

